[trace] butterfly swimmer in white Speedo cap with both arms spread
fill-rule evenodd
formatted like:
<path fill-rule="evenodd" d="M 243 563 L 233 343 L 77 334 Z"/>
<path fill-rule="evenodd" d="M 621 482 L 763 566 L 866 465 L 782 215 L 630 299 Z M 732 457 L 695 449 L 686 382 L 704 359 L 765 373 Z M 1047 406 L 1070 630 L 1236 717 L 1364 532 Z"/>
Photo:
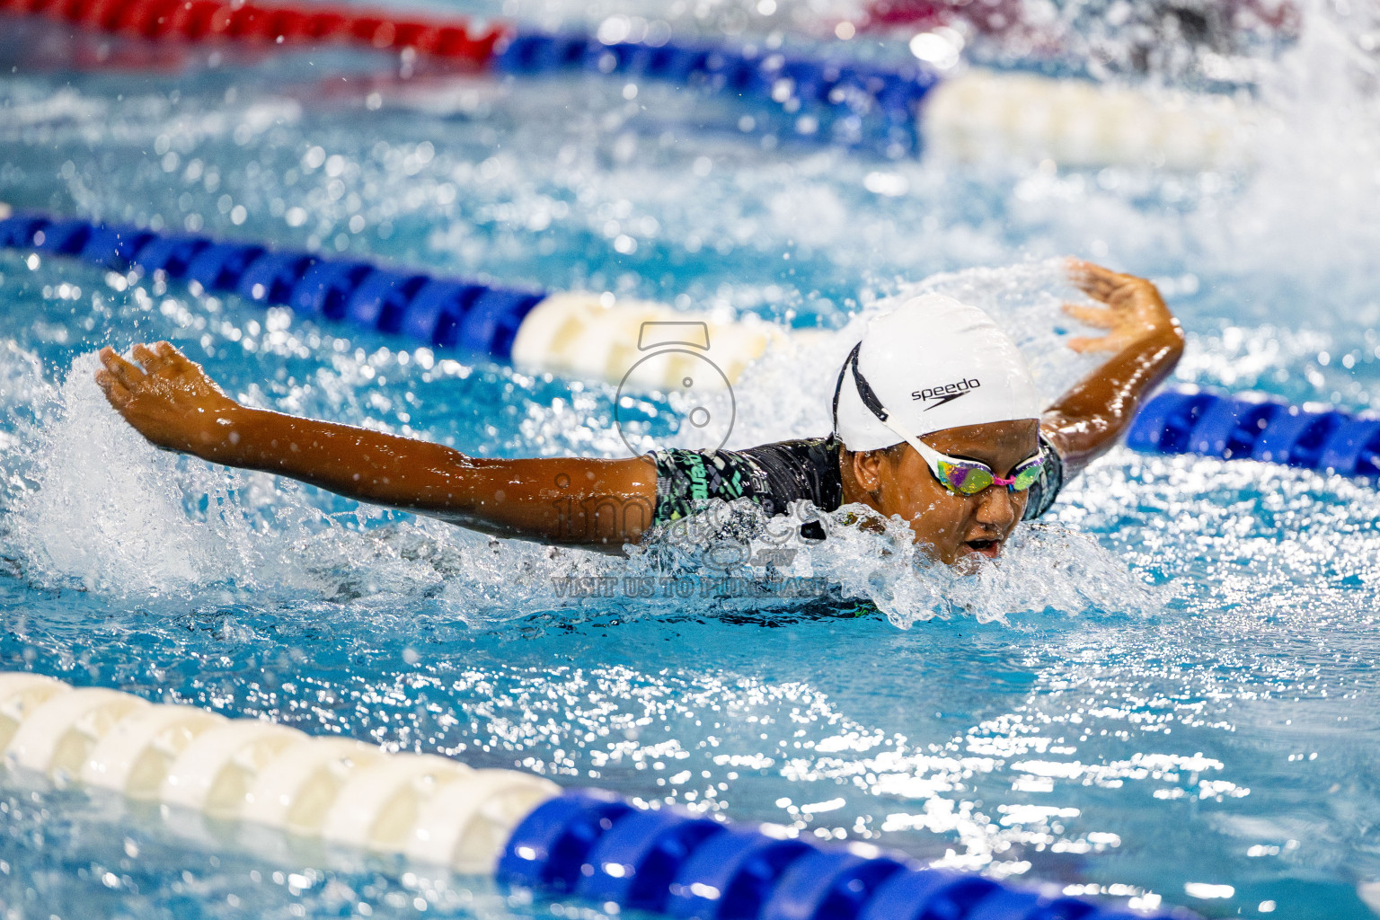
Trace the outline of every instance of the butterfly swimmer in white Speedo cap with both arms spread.
<path fill-rule="evenodd" d="M 134 361 L 103 349 L 95 378 L 157 447 L 500 537 L 618 552 L 708 498 L 748 498 L 769 514 L 807 498 L 821 510 L 860 502 L 900 514 L 918 543 L 955 564 L 996 557 L 1017 523 L 1045 513 L 1183 353 L 1150 281 L 1079 261 L 1070 276 L 1103 306 L 1065 310 L 1107 330 L 1070 348 L 1111 357 L 1053 406 L 1038 403 L 1014 342 L 985 313 L 930 294 L 874 320 L 849 354 L 829 437 L 745 451 L 473 458 L 240 406 L 167 342 L 135 345 Z"/>

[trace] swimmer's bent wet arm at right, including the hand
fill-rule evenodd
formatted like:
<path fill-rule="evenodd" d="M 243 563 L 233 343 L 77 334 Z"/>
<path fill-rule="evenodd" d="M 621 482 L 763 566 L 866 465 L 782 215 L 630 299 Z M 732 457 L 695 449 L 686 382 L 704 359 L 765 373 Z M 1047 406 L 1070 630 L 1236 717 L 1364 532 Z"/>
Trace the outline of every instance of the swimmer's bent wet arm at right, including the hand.
<path fill-rule="evenodd" d="M 1130 426 L 1140 400 L 1169 377 L 1184 353 L 1184 332 L 1154 284 L 1092 262 L 1070 259 L 1070 279 L 1101 306 L 1064 310 L 1105 335 L 1070 339 L 1075 352 L 1110 352 L 1107 361 L 1064 393 L 1041 419 L 1041 430 L 1072 476 L 1111 450 Z"/>

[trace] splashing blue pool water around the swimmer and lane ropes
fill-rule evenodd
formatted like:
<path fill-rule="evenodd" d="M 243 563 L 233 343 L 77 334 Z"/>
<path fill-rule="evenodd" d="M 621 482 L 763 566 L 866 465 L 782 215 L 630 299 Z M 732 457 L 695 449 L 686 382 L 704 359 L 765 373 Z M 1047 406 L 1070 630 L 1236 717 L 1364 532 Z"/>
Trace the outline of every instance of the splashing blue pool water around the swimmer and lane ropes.
<path fill-rule="evenodd" d="M 1181 382 L 1361 410 L 1380 401 L 1374 36 L 1310 10 L 1249 58 L 1257 161 L 1185 174 L 893 161 L 774 143 L 667 87 L 403 79 L 355 52 L 76 66 L 99 54 L 26 22 L 0 40 L 0 199 L 829 332 L 738 385 L 731 446 L 822 433 L 820 354 L 925 279 L 1009 323 L 1057 392 L 1086 370 L 1060 345 L 1061 254 L 1161 284 Z M 160 454 L 90 375 L 103 345 L 167 338 L 257 406 L 506 457 L 625 454 L 613 386 L 26 252 L 0 254 L 0 669 L 1147 908 L 1380 902 L 1374 483 L 1116 450 L 974 578 L 840 530 L 788 567 L 822 590 L 742 596 L 715 588 L 712 539 L 548 550 Z M 642 399 L 649 439 L 675 426 L 673 399 Z M 696 588 L 573 597 L 575 577 Z M 269 857 L 15 774 L 0 815 L 7 917 L 603 916 Z"/>

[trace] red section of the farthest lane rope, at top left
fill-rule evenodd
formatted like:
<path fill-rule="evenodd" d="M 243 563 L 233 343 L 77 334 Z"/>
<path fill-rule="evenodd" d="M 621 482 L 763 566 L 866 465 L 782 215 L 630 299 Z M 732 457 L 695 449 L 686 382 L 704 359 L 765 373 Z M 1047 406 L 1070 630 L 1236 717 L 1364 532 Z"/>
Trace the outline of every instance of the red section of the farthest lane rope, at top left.
<path fill-rule="evenodd" d="M 506 22 L 399 19 L 386 12 L 344 7 L 226 0 L 0 0 L 0 12 L 40 15 L 83 29 L 142 39 L 339 43 L 381 51 L 414 48 L 471 66 L 487 63 L 498 41 L 516 30 Z"/>

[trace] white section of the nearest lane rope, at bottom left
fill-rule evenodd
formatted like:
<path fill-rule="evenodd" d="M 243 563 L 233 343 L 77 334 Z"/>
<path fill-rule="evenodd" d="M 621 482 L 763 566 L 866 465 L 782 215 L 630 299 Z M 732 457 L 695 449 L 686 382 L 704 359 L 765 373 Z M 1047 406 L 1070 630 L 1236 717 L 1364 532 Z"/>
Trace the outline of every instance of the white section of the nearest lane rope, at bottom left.
<path fill-rule="evenodd" d="M 174 828 L 196 836 L 206 815 L 246 822 L 255 847 L 273 828 L 465 873 L 494 872 L 513 829 L 560 796 L 533 774 L 386 753 L 32 673 L 0 673 L 0 752 L 7 766 L 58 783 L 172 806 Z"/>

